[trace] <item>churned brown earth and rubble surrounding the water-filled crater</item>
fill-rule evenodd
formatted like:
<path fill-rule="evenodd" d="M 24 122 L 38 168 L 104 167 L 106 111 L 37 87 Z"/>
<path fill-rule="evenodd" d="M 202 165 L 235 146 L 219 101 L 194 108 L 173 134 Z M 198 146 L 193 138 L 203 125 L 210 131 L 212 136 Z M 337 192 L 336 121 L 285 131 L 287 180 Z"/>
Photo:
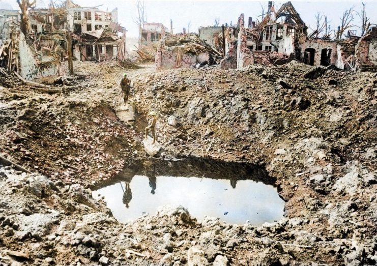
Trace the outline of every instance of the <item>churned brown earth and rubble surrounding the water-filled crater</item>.
<path fill-rule="evenodd" d="M 124 105 L 118 83 L 133 82 Z M 377 74 L 291 62 L 155 72 L 75 62 L 60 94 L 0 79 L 3 265 L 374 265 Z M 260 165 L 286 201 L 262 226 L 196 220 L 184 208 L 119 223 L 93 186 L 149 157 Z M 17 252 L 18 253 L 17 253 Z"/>

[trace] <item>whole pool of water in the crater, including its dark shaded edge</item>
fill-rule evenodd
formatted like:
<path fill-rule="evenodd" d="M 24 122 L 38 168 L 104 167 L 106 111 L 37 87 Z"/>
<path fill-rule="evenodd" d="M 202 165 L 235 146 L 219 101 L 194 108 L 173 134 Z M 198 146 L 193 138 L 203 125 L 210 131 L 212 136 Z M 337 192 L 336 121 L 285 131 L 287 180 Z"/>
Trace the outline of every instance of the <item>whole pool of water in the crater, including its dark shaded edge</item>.
<path fill-rule="evenodd" d="M 143 213 L 154 215 L 159 206 L 182 205 L 199 220 L 211 216 L 259 225 L 283 217 L 284 201 L 274 182 L 265 169 L 245 163 L 201 158 L 139 161 L 93 188 L 93 197 L 104 196 L 120 222 Z"/>

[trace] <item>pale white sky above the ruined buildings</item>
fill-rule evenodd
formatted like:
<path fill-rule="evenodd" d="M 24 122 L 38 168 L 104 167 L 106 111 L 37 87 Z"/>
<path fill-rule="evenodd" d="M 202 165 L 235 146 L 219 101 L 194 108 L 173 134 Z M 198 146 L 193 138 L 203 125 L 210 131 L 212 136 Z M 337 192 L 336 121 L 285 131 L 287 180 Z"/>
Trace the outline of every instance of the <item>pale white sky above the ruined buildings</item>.
<path fill-rule="evenodd" d="M 48 0 L 37 0 L 37 7 L 47 7 Z M 73 0 L 73 2 L 81 7 L 99 6 L 101 10 L 111 11 L 118 8 L 118 21 L 122 26 L 127 28 L 128 37 L 138 36 L 138 27 L 134 23 L 137 16 L 136 0 Z M 354 7 L 356 11 L 362 8 L 362 1 L 292 1 L 296 11 L 310 28 L 315 28 L 315 14 L 321 12 L 327 15 L 332 29 L 335 29 L 340 23 L 340 16 L 344 10 Z M 182 32 L 183 27 L 188 30 L 190 23 L 190 32 L 197 32 L 199 26 L 213 25 L 216 18 L 220 24 L 233 22 L 237 23 L 237 19 L 241 13 L 245 14 L 245 23 L 248 17 L 253 20 L 257 18 L 261 20 L 259 15 L 261 12 L 260 5 L 267 7 L 267 1 L 243 1 L 243 0 L 144 0 L 146 7 L 147 22 L 161 22 L 170 28 L 170 19 L 173 21 L 173 33 Z M 284 2 L 274 2 L 275 10 Z M 363 1 L 366 3 L 367 16 L 377 14 L 377 0 Z M 0 0 L 0 9 L 18 9 L 16 0 Z M 267 9 L 267 8 L 266 8 Z M 361 20 L 354 13 L 354 24 L 360 25 Z M 377 16 L 370 19 L 371 23 L 377 24 Z M 354 27 L 358 33 L 358 27 Z"/>

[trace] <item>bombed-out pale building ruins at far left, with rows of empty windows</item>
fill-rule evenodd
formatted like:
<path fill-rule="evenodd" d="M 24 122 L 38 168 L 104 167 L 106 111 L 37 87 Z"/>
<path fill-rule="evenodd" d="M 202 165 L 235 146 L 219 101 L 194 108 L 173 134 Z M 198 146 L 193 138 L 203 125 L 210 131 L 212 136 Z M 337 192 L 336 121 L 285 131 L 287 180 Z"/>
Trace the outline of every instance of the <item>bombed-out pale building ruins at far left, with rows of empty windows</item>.
<path fill-rule="evenodd" d="M 19 11 L 0 10 L 0 23 L 0 64 L 24 79 L 61 75 L 69 52 L 81 61 L 126 58 L 126 29 L 118 24 L 117 9 L 105 12 L 71 1 L 32 9 L 27 36 L 20 31 Z"/>

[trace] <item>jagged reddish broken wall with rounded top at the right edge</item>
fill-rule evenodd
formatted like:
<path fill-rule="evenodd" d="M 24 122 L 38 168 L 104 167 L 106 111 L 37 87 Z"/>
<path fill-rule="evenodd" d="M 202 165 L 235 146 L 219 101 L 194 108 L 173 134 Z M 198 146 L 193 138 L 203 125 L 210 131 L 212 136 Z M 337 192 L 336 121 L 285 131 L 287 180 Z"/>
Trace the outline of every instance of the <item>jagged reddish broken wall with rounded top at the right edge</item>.
<path fill-rule="evenodd" d="M 355 56 L 359 71 L 377 71 L 377 27 L 359 40 Z"/>

